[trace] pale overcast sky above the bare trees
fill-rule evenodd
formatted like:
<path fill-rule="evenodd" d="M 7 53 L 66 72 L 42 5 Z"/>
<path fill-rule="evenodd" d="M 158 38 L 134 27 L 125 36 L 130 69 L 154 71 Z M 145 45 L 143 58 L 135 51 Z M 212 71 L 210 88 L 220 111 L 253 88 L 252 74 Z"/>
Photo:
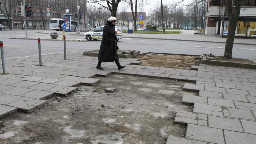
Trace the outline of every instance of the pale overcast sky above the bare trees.
<path fill-rule="evenodd" d="M 174 1 L 179 2 L 180 0 L 174 0 Z M 182 4 L 188 4 L 190 1 L 192 1 L 192 0 L 184 0 Z M 159 4 L 160 4 L 161 1 L 160 0 L 147 0 L 147 3 L 149 5 L 144 4 L 142 11 L 148 13 L 148 10 L 150 8 L 153 9 L 157 2 L 159 2 Z M 169 3 L 172 3 L 172 2 L 173 2 L 173 0 L 163 0 L 163 4 L 169 4 Z M 182 4 L 180 4 L 180 5 L 182 5 Z M 118 5 L 119 10 L 121 10 L 122 7 L 127 7 L 126 11 L 131 12 L 131 8 L 128 7 L 126 3 L 120 3 Z M 139 8 L 137 9 L 137 11 L 140 12 Z"/>

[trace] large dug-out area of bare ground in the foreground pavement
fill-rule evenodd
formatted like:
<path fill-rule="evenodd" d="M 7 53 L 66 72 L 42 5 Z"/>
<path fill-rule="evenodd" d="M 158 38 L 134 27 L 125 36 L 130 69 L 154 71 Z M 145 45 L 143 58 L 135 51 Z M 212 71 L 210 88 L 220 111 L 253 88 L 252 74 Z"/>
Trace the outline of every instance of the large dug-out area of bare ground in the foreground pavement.
<path fill-rule="evenodd" d="M 193 110 L 181 103 L 184 94 L 197 94 L 182 91 L 185 82 L 116 74 L 100 79 L 32 113 L 2 119 L 0 143 L 165 144 L 168 135 L 185 136 L 186 126 L 173 123 L 177 111 Z"/>

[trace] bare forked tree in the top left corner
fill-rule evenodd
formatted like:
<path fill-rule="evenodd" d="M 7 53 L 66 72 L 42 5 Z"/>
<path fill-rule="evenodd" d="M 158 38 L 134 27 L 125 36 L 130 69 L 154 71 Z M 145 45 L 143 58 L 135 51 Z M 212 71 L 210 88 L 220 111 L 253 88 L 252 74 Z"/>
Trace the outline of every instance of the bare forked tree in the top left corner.
<path fill-rule="evenodd" d="M 10 30 L 12 30 L 12 8 L 13 8 L 13 1 L 12 0 L 3 0 L 3 8 L 0 7 L 0 10 L 3 11 L 4 17 L 8 22 L 8 26 Z"/>

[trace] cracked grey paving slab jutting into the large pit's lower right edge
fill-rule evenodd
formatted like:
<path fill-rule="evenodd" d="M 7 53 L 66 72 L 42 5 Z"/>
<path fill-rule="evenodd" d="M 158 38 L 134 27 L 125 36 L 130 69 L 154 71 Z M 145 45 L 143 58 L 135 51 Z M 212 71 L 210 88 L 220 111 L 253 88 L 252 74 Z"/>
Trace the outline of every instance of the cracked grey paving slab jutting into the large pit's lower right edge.
<path fill-rule="evenodd" d="M 179 111 L 176 113 L 174 123 L 176 124 L 192 123 L 196 125 L 207 126 L 207 115 L 192 113 L 187 111 Z"/>

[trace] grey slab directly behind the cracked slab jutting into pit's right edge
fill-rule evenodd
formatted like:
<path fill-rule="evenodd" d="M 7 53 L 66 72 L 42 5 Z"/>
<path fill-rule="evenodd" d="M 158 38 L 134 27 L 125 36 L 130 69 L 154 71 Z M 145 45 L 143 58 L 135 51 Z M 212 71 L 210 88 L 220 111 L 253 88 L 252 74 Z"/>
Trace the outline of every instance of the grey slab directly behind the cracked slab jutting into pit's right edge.
<path fill-rule="evenodd" d="M 195 103 L 193 112 L 223 116 L 220 106 L 207 105 L 203 103 Z"/>

